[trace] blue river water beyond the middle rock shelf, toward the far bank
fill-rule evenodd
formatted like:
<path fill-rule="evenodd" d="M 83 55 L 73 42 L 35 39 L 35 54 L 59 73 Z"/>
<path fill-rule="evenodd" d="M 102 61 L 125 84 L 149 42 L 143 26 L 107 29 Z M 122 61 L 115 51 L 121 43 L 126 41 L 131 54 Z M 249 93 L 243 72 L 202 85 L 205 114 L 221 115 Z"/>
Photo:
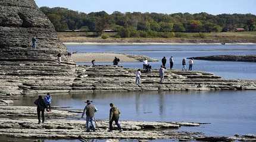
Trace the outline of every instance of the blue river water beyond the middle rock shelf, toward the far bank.
<path fill-rule="evenodd" d="M 67 45 L 67 47 L 70 52 L 142 54 L 158 60 L 161 60 L 164 56 L 173 56 L 175 69 L 181 69 L 181 61 L 186 57 L 256 54 L 256 45 Z M 161 63 L 153 62 L 150 64 L 152 67 L 158 68 Z M 124 67 L 142 67 L 140 62 L 121 62 L 120 65 Z M 227 79 L 256 79 L 256 63 L 196 60 L 194 69 L 213 72 Z"/>

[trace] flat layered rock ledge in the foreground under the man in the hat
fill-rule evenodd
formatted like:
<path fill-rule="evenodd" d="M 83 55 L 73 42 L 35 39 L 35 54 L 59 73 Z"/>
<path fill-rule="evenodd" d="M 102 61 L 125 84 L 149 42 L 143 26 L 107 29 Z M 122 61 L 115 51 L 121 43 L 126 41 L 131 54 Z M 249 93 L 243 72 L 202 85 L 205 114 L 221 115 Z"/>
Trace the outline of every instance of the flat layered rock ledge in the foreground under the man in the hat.
<path fill-rule="evenodd" d="M 19 111 L 17 110 L 19 109 Z M 15 138 L 71 138 L 71 139 L 171 139 L 179 141 L 255 141 L 255 135 L 235 135 L 234 137 L 208 137 L 201 132 L 178 131 L 180 127 L 199 127 L 192 122 L 145 122 L 121 121 L 123 132 L 108 132 L 108 121 L 97 121 L 96 132 L 86 132 L 86 121 L 76 118 L 76 113 L 53 110 L 46 112 L 46 122 L 37 124 L 36 107 L 0 106 L 1 137 Z M 80 116 L 80 115 L 79 115 Z M 17 118 L 18 117 L 18 118 Z M 117 129 L 117 128 L 115 128 Z"/>

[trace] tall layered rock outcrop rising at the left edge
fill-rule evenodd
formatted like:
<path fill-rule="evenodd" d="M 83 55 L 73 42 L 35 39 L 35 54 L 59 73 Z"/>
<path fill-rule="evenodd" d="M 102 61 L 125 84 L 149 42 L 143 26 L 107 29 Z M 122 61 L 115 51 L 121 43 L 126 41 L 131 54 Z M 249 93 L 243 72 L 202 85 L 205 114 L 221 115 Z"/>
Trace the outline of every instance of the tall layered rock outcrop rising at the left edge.
<path fill-rule="evenodd" d="M 38 37 L 32 49 L 32 37 Z M 57 54 L 62 54 L 58 64 Z M 0 99 L 67 92 L 75 64 L 33 0 L 0 0 Z"/>

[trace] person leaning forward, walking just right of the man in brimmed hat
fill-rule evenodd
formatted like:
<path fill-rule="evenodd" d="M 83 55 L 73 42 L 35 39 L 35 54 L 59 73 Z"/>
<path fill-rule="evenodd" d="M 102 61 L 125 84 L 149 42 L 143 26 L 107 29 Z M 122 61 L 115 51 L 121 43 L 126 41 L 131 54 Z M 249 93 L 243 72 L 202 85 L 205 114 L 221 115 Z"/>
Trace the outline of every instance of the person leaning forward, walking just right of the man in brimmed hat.
<path fill-rule="evenodd" d="M 120 124 L 119 124 L 119 115 L 120 111 L 117 107 L 114 106 L 113 103 L 110 103 L 110 130 L 108 131 L 113 131 L 113 121 L 115 121 L 115 125 L 117 125 L 118 130 L 121 132 L 123 131 Z"/>

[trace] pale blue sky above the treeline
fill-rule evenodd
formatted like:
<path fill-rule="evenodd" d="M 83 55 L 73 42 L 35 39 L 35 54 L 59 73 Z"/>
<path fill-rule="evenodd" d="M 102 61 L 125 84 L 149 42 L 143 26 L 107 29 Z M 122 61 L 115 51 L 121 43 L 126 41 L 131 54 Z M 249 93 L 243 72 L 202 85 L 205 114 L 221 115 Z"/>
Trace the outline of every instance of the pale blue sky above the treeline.
<path fill-rule="evenodd" d="M 255 14 L 256 0 L 36 0 L 39 7 L 64 7 L 79 12 L 207 12 Z"/>

